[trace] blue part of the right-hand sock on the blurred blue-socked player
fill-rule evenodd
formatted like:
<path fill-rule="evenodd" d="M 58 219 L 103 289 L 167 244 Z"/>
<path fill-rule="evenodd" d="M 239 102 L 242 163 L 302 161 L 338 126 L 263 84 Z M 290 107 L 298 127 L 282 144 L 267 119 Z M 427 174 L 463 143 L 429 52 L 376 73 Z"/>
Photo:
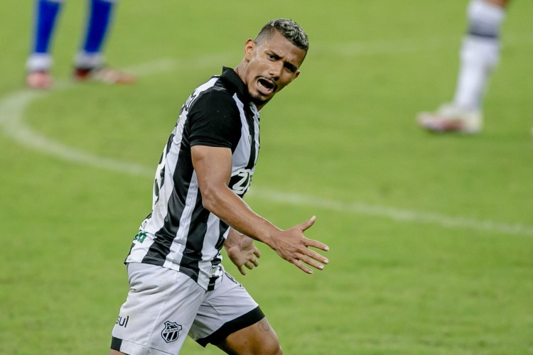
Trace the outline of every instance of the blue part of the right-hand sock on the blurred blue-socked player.
<path fill-rule="evenodd" d="M 111 1 L 90 0 L 90 15 L 83 51 L 87 54 L 99 53 L 104 43 L 114 4 Z"/>

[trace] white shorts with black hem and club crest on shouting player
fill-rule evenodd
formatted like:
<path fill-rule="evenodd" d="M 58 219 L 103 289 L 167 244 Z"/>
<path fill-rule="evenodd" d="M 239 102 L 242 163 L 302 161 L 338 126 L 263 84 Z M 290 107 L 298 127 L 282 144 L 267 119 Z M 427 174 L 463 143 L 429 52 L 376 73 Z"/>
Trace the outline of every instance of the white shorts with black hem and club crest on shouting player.
<path fill-rule="evenodd" d="M 215 290 L 206 291 L 184 273 L 129 263 L 128 282 L 111 342 L 111 349 L 126 354 L 178 354 L 186 334 L 202 346 L 219 344 L 264 317 L 228 273 Z"/>

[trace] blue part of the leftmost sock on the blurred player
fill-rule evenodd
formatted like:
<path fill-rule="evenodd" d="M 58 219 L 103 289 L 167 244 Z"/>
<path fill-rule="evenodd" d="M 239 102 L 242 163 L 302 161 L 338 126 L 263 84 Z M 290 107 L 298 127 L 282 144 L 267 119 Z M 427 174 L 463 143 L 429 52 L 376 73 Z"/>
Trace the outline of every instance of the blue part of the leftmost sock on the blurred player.
<path fill-rule="evenodd" d="M 33 28 L 33 43 L 31 51 L 33 53 L 48 53 L 50 39 L 55 27 L 55 20 L 61 9 L 59 2 L 48 0 L 36 0 L 36 16 Z"/>

